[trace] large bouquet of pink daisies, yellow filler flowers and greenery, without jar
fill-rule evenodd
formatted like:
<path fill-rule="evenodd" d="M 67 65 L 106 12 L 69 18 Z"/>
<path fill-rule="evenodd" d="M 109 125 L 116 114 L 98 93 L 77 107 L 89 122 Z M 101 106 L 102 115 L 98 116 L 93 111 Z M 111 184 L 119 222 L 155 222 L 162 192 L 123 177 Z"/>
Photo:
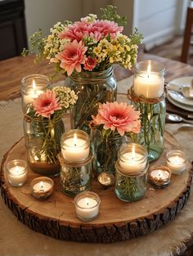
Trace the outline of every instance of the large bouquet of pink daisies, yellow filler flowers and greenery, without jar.
<path fill-rule="evenodd" d="M 44 59 L 56 64 L 56 71 L 70 76 L 75 71 L 101 71 L 118 63 L 130 69 L 137 60 L 141 34 L 135 29 L 130 37 L 122 34 L 126 24 L 116 8 L 108 6 L 102 11 L 102 20 L 90 14 L 79 21 L 57 22 L 51 34 L 43 38 L 42 30 L 29 38 L 29 52 L 36 53 L 36 62 Z"/>

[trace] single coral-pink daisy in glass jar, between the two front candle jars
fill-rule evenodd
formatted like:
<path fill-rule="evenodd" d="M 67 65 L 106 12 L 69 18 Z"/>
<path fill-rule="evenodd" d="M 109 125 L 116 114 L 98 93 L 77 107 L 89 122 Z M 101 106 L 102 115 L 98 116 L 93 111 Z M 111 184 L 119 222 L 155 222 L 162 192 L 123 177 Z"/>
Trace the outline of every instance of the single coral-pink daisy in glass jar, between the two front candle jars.
<path fill-rule="evenodd" d="M 94 168 L 99 173 L 114 174 L 119 146 L 128 142 L 128 137 L 134 140 L 140 132 L 140 112 L 123 102 L 106 102 L 92 116 L 90 126 Z"/>

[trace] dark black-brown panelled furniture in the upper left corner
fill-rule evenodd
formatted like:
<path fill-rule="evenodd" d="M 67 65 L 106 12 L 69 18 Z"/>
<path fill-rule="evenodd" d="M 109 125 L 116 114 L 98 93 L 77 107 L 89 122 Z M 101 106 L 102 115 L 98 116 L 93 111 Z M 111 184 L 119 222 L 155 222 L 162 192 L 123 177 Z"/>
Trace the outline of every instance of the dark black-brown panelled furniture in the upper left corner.
<path fill-rule="evenodd" d="M 20 56 L 27 47 L 24 0 L 0 1 L 0 61 Z"/>

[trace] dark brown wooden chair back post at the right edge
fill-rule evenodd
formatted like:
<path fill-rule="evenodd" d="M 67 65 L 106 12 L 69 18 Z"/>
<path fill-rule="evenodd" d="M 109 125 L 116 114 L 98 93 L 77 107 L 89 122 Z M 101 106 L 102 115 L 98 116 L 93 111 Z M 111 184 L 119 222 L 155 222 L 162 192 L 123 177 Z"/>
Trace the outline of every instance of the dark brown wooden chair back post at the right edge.
<path fill-rule="evenodd" d="M 189 48 L 191 45 L 191 29 L 193 24 L 193 8 L 187 8 L 186 14 L 186 28 L 184 31 L 184 39 L 182 45 L 182 54 L 181 54 L 181 61 L 187 63 Z"/>

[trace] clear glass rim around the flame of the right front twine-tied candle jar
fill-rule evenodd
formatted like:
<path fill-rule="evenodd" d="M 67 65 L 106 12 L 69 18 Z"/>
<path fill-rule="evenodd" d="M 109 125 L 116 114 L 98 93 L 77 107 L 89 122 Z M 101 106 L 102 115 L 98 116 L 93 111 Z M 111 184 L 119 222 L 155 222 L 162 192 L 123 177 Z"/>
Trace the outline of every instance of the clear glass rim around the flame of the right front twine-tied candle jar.
<path fill-rule="evenodd" d="M 136 145 L 136 146 L 135 146 Z M 135 161 L 137 163 L 141 163 L 141 161 L 144 161 L 145 159 L 147 159 L 148 157 L 148 152 L 146 150 L 146 147 L 145 146 L 142 146 L 140 144 L 137 144 L 137 143 L 129 143 L 129 144 L 123 144 L 122 146 L 120 146 L 119 148 L 119 152 L 118 152 L 118 157 L 119 159 L 122 159 L 122 160 L 127 160 L 126 157 L 123 156 L 123 150 L 126 150 L 127 148 L 132 148 L 132 146 L 135 146 L 138 147 L 138 149 L 140 149 L 141 151 L 144 152 L 144 155 L 142 155 L 141 159 L 135 159 Z M 130 151 L 129 151 L 130 152 Z M 128 153 L 128 151 L 125 151 L 124 153 Z"/>

